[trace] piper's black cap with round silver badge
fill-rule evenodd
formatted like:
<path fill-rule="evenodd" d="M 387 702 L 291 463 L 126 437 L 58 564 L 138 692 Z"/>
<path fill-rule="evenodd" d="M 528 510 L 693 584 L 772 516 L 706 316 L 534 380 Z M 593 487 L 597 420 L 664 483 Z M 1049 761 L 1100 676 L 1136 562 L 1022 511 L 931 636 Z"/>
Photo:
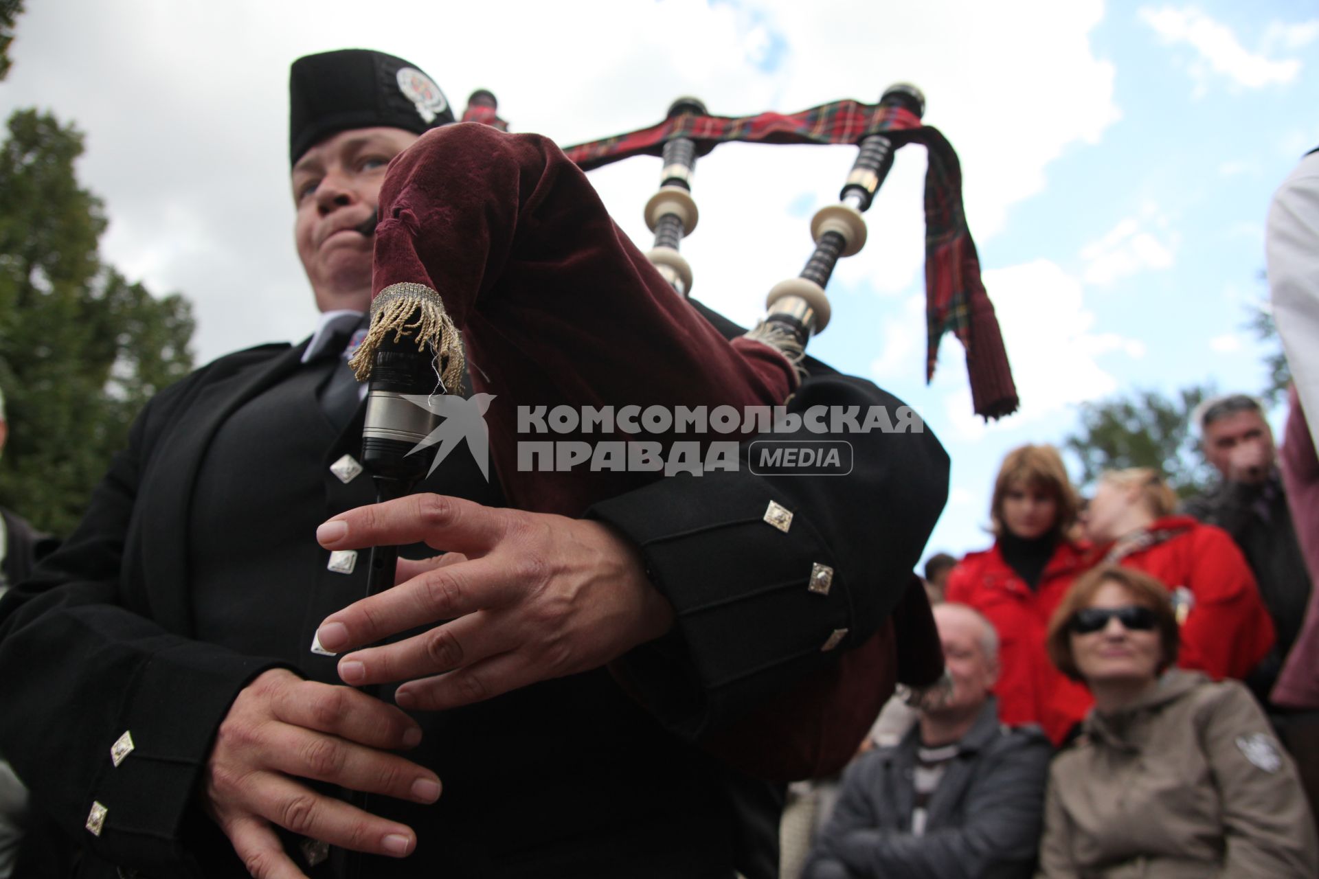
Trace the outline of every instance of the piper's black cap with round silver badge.
<path fill-rule="evenodd" d="M 415 65 L 371 49 L 306 55 L 289 71 L 289 163 L 350 128 L 421 134 L 454 121 L 435 80 Z"/>

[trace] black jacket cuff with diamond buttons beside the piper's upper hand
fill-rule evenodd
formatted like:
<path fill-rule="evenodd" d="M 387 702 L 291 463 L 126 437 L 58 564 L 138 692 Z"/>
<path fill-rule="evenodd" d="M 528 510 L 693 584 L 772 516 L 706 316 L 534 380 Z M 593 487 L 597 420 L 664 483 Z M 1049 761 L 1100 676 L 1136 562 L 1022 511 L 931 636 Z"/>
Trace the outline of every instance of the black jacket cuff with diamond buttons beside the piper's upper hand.
<path fill-rule="evenodd" d="M 673 631 L 615 671 L 675 731 L 698 737 L 864 640 L 849 577 L 791 498 L 718 472 L 644 492 L 590 515 L 637 544 L 673 605 Z"/>

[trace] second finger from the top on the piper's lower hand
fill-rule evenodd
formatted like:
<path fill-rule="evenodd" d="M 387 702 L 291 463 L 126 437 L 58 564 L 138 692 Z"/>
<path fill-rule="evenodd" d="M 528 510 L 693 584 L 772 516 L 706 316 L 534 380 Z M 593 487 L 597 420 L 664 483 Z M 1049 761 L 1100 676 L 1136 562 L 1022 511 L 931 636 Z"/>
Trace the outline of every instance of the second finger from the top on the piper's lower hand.
<path fill-rule="evenodd" d="M 350 791 L 414 803 L 434 803 L 439 799 L 439 779 L 435 774 L 397 754 L 376 751 L 288 723 L 273 723 L 260 752 L 253 756 L 262 766 L 299 778 L 330 781 Z"/>

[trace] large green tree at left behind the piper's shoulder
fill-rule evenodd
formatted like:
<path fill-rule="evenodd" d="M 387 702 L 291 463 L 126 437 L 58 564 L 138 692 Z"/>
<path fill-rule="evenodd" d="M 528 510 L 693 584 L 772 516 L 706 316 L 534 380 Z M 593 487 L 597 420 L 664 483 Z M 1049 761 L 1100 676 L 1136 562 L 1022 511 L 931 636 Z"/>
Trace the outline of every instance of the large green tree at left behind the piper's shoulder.
<path fill-rule="evenodd" d="M 141 405 L 187 374 L 193 318 L 104 265 L 100 199 L 74 161 L 82 134 L 18 111 L 0 148 L 0 387 L 9 443 L 0 503 L 67 534 Z"/>

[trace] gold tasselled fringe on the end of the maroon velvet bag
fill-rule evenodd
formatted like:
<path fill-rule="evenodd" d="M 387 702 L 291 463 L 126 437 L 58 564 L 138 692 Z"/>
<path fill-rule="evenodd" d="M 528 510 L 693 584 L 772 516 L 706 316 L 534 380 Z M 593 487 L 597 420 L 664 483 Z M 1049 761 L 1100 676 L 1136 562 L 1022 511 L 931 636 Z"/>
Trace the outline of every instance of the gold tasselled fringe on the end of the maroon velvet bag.
<path fill-rule="evenodd" d="M 467 370 L 463 339 L 438 293 L 423 283 L 392 283 L 376 295 L 371 302 L 371 329 L 348 361 L 357 381 L 371 378 L 376 351 L 390 332 L 393 344 L 414 337 L 417 351 L 433 345 L 441 385 L 446 393 L 458 393 Z"/>

